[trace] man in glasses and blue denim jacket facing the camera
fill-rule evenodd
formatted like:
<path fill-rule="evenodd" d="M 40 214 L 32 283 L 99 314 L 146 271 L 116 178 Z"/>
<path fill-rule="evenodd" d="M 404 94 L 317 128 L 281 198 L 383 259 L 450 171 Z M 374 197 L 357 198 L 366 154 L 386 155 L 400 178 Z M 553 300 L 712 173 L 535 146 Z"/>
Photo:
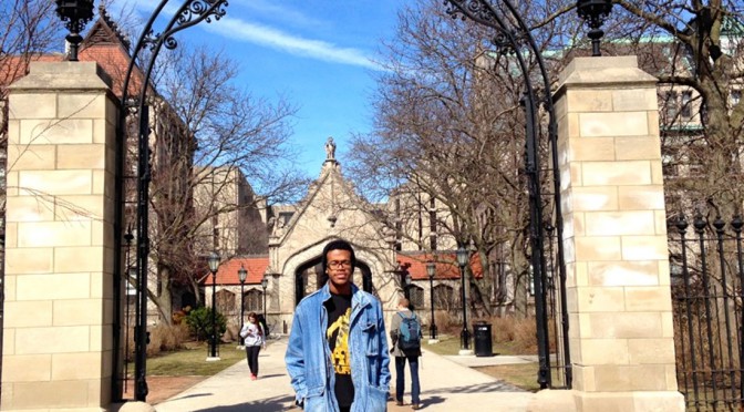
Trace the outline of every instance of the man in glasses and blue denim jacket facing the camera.
<path fill-rule="evenodd" d="M 380 301 L 351 282 L 356 265 L 345 240 L 323 248 L 328 281 L 297 306 L 285 361 L 307 411 L 385 411 L 390 358 Z"/>

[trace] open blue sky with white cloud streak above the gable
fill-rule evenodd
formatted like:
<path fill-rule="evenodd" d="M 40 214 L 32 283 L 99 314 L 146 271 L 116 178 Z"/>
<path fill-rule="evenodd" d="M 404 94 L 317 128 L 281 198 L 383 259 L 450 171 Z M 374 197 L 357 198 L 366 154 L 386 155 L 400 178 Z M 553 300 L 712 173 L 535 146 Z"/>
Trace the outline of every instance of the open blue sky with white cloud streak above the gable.
<path fill-rule="evenodd" d="M 224 49 L 239 62 L 238 81 L 254 95 L 268 99 L 283 95 L 299 107 L 292 143 L 300 152 L 300 168 L 310 176 L 320 172 L 328 136 L 337 142 L 337 157 L 343 163 L 350 134 L 371 130 L 373 74 L 380 70 L 373 61 L 380 58 L 381 41 L 394 34 L 396 10 L 402 2 L 228 2 L 225 18 L 189 28 L 178 33 L 177 39 Z M 142 19 L 152 13 L 156 3 L 124 2 L 134 7 Z M 182 1 L 170 3 L 175 7 Z"/>

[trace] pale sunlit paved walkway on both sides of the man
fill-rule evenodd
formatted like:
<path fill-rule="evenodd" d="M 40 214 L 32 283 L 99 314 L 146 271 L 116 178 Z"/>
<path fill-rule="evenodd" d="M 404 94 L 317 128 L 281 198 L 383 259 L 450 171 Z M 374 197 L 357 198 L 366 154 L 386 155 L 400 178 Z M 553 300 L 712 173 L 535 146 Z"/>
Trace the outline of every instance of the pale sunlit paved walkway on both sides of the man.
<path fill-rule="evenodd" d="M 202 381 L 188 390 L 155 405 L 158 412 L 209 411 L 209 412 L 273 412 L 292 410 L 294 392 L 289 384 L 289 375 L 285 368 L 287 340 L 273 340 L 261 351 L 259 357 L 260 375 L 257 381 L 250 380 L 250 372 L 245 361 L 227 368 L 223 372 Z M 479 405 L 479 410 L 488 405 L 488 411 L 525 411 L 535 396 L 508 383 L 463 364 L 498 364 L 508 361 L 530 361 L 530 359 L 510 359 L 507 357 L 442 357 L 433 352 L 424 352 L 421 360 L 421 400 L 427 412 L 465 410 Z M 394 369 L 394 368 L 393 368 Z M 392 372 L 392 383 L 395 372 Z M 407 375 L 406 375 L 407 378 Z M 410 385 L 410 383 L 409 383 Z M 410 388 L 409 388 L 410 389 Z M 411 401 L 406 391 L 405 401 Z M 388 410 L 411 411 L 410 405 L 397 406 L 388 403 Z"/>

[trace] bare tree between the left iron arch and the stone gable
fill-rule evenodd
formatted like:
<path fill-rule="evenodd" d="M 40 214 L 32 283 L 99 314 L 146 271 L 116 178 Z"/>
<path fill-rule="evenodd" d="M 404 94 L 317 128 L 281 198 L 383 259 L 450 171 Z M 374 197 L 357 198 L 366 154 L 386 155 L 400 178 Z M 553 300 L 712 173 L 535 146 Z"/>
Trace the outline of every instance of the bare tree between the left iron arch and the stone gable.
<path fill-rule="evenodd" d="M 292 199 L 304 187 L 288 145 L 296 109 L 283 99 L 272 104 L 254 97 L 236 85 L 237 74 L 223 52 L 202 48 L 176 50 L 155 76 L 162 99 L 154 104 L 159 119 L 152 159 L 149 298 L 164 319 L 170 317 L 175 286 L 199 296 L 204 257 L 221 248 L 205 239 L 205 227 L 220 216 L 251 213 L 247 225 L 260 227 L 259 203 Z M 244 179 L 250 196 L 237 189 Z"/>

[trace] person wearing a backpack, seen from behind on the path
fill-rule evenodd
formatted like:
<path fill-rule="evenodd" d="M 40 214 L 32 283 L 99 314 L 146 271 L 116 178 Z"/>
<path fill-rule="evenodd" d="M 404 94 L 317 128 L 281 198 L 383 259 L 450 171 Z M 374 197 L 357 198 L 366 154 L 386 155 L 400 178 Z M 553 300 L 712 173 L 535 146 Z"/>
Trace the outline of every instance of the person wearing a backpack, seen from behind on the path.
<path fill-rule="evenodd" d="M 395 403 L 403 405 L 405 390 L 405 361 L 411 370 L 411 408 L 421 409 L 418 384 L 418 357 L 421 357 L 421 320 L 411 309 L 409 299 L 401 298 L 397 312 L 393 315 L 390 337 L 393 341 L 390 353 L 395 358 Z"/>

